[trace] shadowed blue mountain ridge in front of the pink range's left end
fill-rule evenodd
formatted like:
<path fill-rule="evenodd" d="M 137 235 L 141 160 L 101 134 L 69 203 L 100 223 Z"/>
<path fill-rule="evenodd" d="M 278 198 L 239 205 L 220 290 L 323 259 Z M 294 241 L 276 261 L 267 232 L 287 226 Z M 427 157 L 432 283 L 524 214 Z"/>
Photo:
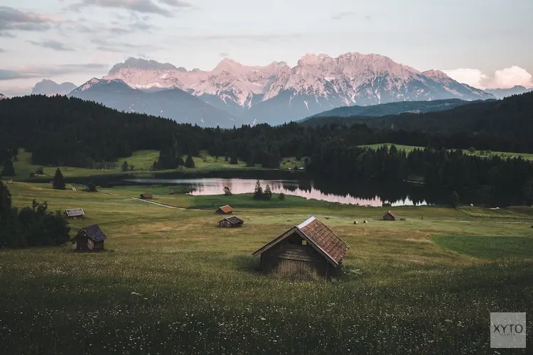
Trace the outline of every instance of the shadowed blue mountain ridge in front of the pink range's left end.
<path fill-rule="evenodd" d="M 218 125 L 225 128 L 242 124 L 227 112 L 215 109 L 198 97 L 176 88 L 144 92 L 129 87 L 119 79 L 104 80 L 93 77 L 72 90 L 69 96 L 98 102 L 119 111 L 162 116 L 179 123 Z"/>

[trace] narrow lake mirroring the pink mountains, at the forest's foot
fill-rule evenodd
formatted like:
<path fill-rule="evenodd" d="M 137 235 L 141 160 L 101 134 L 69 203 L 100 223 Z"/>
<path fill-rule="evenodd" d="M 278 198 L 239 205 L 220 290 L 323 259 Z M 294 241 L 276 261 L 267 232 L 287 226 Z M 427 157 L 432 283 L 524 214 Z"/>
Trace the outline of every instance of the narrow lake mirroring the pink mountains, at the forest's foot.
<path fill-rule="evenodd" d="M 187 186 L 190 189 L 190 195 L 222 195 L 224 187 L 230 188 L 233 194 L 244 194 L 254 192 L 257 180 L 254 179 L 223 179 L 223 178 L 198 178 L 198 179 L 133 179 L 131 182 L 139 182 L 146 184 L 172 184 Z M 381 207 L 382 203 L 391 203 L 393 206 L 412 206 L 415 203 L 409 196 L 396 199 L 394 201 L 382 200 L 378 195 L 369 197 L 365 193 L 365 197 L 357 197 L 350 195 L 350 193 L 327 193 L 315 187 L 312 181 L 298 181 L 298 180 L 259 180 L 261 186 L 266 185 L 274 193 L 283 192 L 285 195 L 294 195 L 305 197 L 306 199 L 315 199 L 328 202 L 338 202 L 342 204 L 359 204 L 369 205 L 374 207 Z M 364 187 L 358 187 L 363 188 Z M 335 189 L 337 190 L 337 189 Z M 416 205 L 427 204 L 426 200 L 417 201 Z"/>

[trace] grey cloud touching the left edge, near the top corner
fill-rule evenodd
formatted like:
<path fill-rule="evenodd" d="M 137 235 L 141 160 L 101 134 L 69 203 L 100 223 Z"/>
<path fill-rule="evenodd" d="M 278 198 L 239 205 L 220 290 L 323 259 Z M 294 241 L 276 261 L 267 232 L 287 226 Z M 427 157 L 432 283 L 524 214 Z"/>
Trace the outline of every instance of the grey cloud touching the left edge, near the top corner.
<path fill-rule="evenodd" d="M 13 31 L 46 31 L 60 22 L 63 19 L 54 16 L 0 6 L 0 37 L 14 37 Z"/>

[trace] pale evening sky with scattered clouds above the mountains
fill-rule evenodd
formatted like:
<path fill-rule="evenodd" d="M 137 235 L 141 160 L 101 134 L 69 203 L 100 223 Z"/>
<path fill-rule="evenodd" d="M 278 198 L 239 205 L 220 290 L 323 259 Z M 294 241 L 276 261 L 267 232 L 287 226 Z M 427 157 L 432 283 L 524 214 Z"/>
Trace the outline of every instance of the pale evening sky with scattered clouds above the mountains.
<path fill-rule="evenodd" d="M 481 89 L 533 87 L 532 0 L 1 0 L 0 92 L 129 57 L 212 70 L 377 53 Z"/>

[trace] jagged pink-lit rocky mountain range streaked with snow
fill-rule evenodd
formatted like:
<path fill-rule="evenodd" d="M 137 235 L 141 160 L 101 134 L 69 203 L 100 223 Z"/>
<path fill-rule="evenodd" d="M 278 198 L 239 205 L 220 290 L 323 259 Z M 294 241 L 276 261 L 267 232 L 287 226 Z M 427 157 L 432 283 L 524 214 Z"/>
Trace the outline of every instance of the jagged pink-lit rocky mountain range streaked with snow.
<path fill-rule="evenodd" d="M 295 67 L 285 62 L 247 66 L 224 59 L 209 72 L 130 58 L 105 79 L 123 80 L 136 89 L 183 89 L 234 116 L 270 124 L 355 104 L 494 99 L 443 72 L 419 72 L 383 55 L 360 53 L 304 55 Z"/>

